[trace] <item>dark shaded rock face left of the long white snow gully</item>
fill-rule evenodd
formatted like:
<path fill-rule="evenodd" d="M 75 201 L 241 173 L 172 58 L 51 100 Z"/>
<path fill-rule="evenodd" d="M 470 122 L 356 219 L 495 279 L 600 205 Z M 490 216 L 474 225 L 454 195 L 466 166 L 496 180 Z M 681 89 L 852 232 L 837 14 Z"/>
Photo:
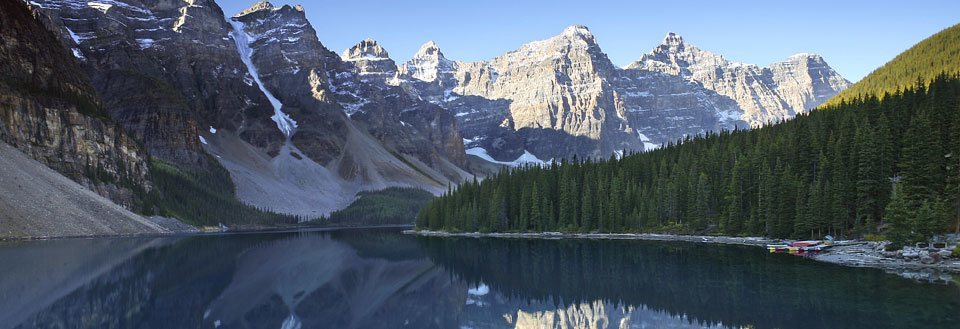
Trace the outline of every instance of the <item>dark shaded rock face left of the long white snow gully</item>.
<path fill-rule="evenodd" d="M 276 153 L 283 136 L 269 102 L 250 83 L 212 0 L 40 0 L 81 61 L 110 116 L 150 155 L 180 168 L 212 163 L 200 136 L 235 131 Z"/>

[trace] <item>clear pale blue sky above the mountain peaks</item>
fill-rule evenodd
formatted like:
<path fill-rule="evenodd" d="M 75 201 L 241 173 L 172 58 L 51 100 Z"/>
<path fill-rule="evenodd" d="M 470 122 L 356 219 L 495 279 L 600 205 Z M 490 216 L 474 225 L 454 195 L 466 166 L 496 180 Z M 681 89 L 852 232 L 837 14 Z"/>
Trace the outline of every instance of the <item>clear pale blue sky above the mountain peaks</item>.
<path fill-rule="evenodd" d="M 220 0 L 232 16 L 254 0 Z M 571 24 L 590 28 L 625 66 L 670 31 L 727 59 L 766 65 L 798 52 L 822 55 L 857 81 L 937 31 L 960 23 L 960 1 L 272 1 L 302 4 L 320 41 L 337 53 L 364 38 L 406 61 L 427 40 L 454 60 L 486 60 L 548 38 Z"/>

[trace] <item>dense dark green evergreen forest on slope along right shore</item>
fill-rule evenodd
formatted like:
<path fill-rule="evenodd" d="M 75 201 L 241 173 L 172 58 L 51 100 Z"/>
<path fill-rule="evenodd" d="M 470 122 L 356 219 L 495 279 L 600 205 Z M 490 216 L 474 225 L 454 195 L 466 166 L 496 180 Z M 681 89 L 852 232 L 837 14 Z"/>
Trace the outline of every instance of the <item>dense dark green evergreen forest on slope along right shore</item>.
<path fill-rule="evenodd" d="M 960 227 L 960 79 L 941 75 L 882 99 L 619 160 L 505 169 L 435 199 L 417 226 L 778 238 L 880 232 L 898 243 Z"/>

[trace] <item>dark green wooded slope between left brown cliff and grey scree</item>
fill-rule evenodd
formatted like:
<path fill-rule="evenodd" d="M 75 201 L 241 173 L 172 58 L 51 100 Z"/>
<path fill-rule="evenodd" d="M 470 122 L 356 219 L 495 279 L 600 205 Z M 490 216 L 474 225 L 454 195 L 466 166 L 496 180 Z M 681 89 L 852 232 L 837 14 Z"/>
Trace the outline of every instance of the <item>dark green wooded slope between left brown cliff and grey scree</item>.
<path fill-rule="evenodd" d="M 155 186 L 144 201 L 145 215 L 174 217 L 196 226 L 230 227 L 294 225 L 302 219 L 243 204 L 237 200 L 230 174 L 220 166 L 206 173 L 188 172 L 151 159 L 150 173 Z"/>

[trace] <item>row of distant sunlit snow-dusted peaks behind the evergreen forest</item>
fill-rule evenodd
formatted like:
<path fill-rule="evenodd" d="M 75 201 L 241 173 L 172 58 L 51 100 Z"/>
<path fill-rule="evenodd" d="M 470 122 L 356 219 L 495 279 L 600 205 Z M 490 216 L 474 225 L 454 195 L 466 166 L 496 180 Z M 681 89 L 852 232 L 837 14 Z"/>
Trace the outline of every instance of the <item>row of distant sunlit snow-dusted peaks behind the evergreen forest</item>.
<path fill-rule="evenodd" d="M 388 56 L 378 63 L 389 65 Z M 434 42 L 378 75 L 454 113 L 467 152 L 494 163 L 606 158 L 686 136 L 792 118 L 848 82 L 819 56 L 769 68 L 733 63 L 670 33 L 627 68 L 614 66 L 587 27 L 483 62 L 447 59 Z"/>

